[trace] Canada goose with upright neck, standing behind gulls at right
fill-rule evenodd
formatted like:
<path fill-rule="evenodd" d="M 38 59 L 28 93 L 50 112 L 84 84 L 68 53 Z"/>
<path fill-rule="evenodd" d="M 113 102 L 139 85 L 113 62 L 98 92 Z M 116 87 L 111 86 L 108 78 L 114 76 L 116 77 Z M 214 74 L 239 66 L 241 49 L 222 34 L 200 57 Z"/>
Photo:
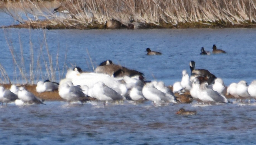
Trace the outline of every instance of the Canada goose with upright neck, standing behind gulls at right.
<path fill-rule="evenodd" d="M 204 79 L 204 81 L 208 82 L 209 85 L 214 83 L 214 80 L 217 78 L 216 76 L 211 74 L 206 69 L 195 69 L 196 68 L 196 64 L 195 64 L 194 61 L 190 61 L 189 66 L 190 66 L 190 70 L 191 70 L 191 76 L 193 76 L 193 77 L 201 77 L 201 78 Z M 201 82 L 200 82 L 200 84 L 201 84 Z"/>

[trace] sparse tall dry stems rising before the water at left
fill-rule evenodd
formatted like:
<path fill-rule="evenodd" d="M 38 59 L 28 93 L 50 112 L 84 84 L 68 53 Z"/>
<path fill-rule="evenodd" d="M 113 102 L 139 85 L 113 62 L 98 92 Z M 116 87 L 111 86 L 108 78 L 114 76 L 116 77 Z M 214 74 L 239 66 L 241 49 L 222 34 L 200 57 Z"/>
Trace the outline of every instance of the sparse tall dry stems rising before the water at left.
<path fill-rule="evenodd" d="M 43 40 L 40 43 L 40 49 L 35 48 L 32 42 L 31 33 L 29 38 L 29 54 L 23 53 L 23 42 L 20 34 L 19 49 L 14 47 L 13 40 L 9 36 L 9 33 L 4 29 L 5 39 L 13 59 L 13 65 L 9 64 L 9 68 L 13 67 L 13 78 L 10 79 L 5 68 L 0 64 L 0 81 L 4 84 L 36 84 L 39 80 L 57 81 L 63 78 L 64 72 L 67 70 L 66 66 L 66 54 L 63 60 L 63 67 L 59 66 L 59 54 L 50 53 L 48 44 L 46 41 L 46 32 L 43 30 Z M 59 48 L 58 48 L 59 49 Z M 35 52 L 35 50 L 37 50 Z M 35 55 L 37 54 L 37 55 Z M 46 54 L 46 55 L 43 55 Z M 56 57 L 52 56 L 56 55 Z M 26 59 L 26 60 L 25 60 Z"/>

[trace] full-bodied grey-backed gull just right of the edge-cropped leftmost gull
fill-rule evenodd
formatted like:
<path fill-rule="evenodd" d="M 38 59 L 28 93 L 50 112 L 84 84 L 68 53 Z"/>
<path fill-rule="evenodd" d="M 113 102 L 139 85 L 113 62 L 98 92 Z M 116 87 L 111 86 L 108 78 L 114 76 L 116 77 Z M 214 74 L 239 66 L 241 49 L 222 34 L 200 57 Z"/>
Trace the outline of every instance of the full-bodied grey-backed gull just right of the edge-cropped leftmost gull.
<path fill-rule="evenodd" d="M 33 93 L 29 92 L 24 87 L 19 87 L 18 98 L 25 104 L 44 104 L 42 100 L 38 99 Z"/>

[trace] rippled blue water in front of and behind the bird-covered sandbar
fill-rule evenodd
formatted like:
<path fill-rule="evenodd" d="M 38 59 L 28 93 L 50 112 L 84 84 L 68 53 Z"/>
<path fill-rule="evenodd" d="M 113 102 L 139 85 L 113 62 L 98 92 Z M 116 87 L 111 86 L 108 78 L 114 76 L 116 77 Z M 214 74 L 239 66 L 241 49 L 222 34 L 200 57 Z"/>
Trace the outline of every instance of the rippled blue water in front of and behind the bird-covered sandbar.
<path fill-rule="evenodd" d="M 1 15 L 1 13 L 0 13 Z M 0 20 L 3 20 L 0 16 Z M 12 23 L 7 19 L 4 24 Z M 3 24 L 3 23 L 1 23 Z M 181 81 L 189 61 L 196 68 L 208 69 L 225 85 L 255 79 L 256 29 L 155 29 L 155 30 L 28 30 L 0 29 L 0 63 L 12 82 L 23 81 L 14 72 L 8 44 L 13 46 L 19 64 L 29 72 L 31 58 L 37 58 L 42 71 L 35 79 L 48 79 L 44 61 L 47 50 L 59 72 L 72 66 L 92 71 L 106 59 L 172 85 Z M 46 41 L 44 40 L 46 35 Z M 30 42 L 31 40 L 31 42 Z M 45 43 L 46 42 L 46 43 Z M 212 45 L 227 54 L 200 56 L 203 46 Z M 22 46 L 22 47 L 21 47 Z M 32 46 L 33 49 L 30 49 Z M 163 53 L 146 56 L 146 48 Z M 31 51 L 33 50 L 33 57 Z M 89 54 L 87 53 L 87 50 Z M 65 67 L 64 64 L 66 64 Z M 38 67 L 39 68 L 39 67 Z M 38 69 L 40 70 L 40 69 Z M 18 69 L 16 67 L 16 72 Z M 43 76 L 43 77 L 40 77 Z M 57 77 L 56 80 L 62 77 Z M 235 100 L 230 100 L 235 101 Z M 46 105 L 0 107 L 2 144 L 254 144 L 256 134 L 255 100 L 250 103 L 202 105 L 170 104 L 154 107 L 152 102 L 135 104 L 124 101 L 104 107 L 101 102 L 67 105 L 46 101 Z M 196 110 L 195 116 L 179 116 L 179 108 Z"/>

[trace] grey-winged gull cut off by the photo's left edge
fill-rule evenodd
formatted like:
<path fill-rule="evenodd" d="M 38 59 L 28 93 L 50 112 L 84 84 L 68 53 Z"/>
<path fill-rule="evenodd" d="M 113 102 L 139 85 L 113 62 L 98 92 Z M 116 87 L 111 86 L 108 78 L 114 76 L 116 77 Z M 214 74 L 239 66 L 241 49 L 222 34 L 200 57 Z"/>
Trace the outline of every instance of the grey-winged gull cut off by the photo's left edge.
<path fill-rule="evenodd" d="M 3 86 L 0 86 L 0 102 L 2 103 L 10 103 L 14 102 L 16 99 L 18 99 L 18 96 L 15 95 L 13 92 L 11 92 L 8 89 L 4 89 Z"/>

